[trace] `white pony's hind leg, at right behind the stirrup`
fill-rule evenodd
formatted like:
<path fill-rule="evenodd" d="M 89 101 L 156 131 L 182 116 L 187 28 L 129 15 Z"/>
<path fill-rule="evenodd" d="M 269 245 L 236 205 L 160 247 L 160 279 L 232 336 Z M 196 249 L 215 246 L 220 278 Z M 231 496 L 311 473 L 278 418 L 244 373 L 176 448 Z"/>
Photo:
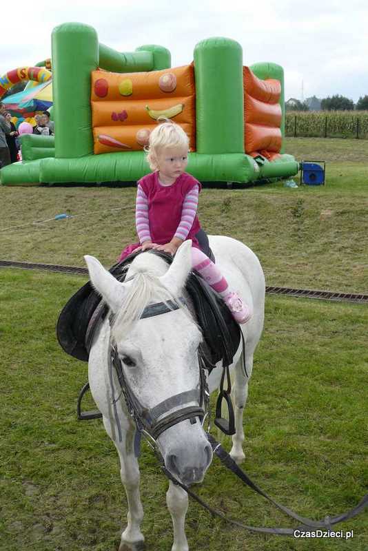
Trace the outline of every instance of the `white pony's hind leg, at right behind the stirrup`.
<path fill-rule="evenodd" d="M 248 397 L 248 382 L 252 375 L 253 354 L 247 355 L 245 358 L 245 368 L 247 375 L 244 373 L 243 352 L 235 366 L 235 428 L 236 433 L 232 437 L 232 450 L 230 455 L 237 464 L 240 464 L 245 455 L 243 452 L 244 429 L 243 429 L 243 413 L 245 403 Z"/>

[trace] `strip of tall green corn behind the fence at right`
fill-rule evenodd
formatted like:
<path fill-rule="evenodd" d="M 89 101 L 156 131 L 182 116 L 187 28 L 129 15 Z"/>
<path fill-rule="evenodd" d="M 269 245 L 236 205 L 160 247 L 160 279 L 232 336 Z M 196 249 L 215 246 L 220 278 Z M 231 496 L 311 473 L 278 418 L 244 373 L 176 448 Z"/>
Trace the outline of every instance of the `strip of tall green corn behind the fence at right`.
<path fill-rule="evenodd" d="M 368 139 L 368 111 L 288 111 L 285 136 Z"/>

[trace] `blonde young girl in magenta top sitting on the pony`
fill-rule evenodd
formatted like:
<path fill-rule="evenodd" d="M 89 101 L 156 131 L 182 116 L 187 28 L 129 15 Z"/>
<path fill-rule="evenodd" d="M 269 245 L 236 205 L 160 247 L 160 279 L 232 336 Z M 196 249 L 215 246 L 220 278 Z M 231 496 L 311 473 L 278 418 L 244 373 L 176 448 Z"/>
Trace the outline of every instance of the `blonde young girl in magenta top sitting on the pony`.
<path fill-rule="evenodd" d="M 234 320 L 244 324 L 252 316 L 249 306 L 229 289 L 198 243 L 201 225 L 196 210 L 201 184 L 185 172 L 188 148 L 187 134 L 171 121 L 161 123 L 150 134 L 147 161 L 153 172 L 139 180 L 136 195 L 139 243 L 125 247 L 119 260 L 138 249 L 158 249 L 174 255 L 183 241 L 191 239 L 193 268 L 221 295 Z"/>

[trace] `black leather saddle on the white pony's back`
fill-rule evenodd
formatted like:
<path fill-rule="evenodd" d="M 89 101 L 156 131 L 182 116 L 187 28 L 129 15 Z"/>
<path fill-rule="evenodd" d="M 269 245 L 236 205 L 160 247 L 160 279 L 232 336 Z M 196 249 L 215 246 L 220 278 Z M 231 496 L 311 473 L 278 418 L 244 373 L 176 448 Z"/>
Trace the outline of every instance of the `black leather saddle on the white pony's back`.
<path fill-rule="evenodd" d="M 164 258 L 168 264 L 172 256 L 161 251 L 150 249 L 150 253 Z M 127 269 L 132 260 L 140 254 L 134 252 L 123 262 L 114 264 L 110 273 L 119 281 L 125 280 Z M 192 300 L 196 321 L 203 331 L 204 355 L 209 371 L 223 360 L 223 366 L 232 363 L 241 340 L 241 329 L 235 322 L 221 297 L 192 271 L 187 284 L 187 293 Z M 86 283 L 65 304 L 57 322 L 57 338 L 61 348 L 73 357 L 88 361 L 93 335 L 99 322 L 108 315 L 108 305 L 103 302 L 99 293 Z"/>

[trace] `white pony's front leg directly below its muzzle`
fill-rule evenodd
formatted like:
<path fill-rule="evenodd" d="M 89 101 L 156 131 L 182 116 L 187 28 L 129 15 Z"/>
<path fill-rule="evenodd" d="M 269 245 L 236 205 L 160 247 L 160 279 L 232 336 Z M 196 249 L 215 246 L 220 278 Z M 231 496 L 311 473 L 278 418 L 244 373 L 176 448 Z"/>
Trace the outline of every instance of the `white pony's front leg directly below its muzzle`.
<path fill-rule="evenodd" d="M 166 492 L 166 503 L 172 517 L 172 526 L 174 527 L 172 551 L 188 551 L 189 547 L 184 530 L 185 515 L 188 509 L 187 492 L 170 480 L 169 489 Z"/>

